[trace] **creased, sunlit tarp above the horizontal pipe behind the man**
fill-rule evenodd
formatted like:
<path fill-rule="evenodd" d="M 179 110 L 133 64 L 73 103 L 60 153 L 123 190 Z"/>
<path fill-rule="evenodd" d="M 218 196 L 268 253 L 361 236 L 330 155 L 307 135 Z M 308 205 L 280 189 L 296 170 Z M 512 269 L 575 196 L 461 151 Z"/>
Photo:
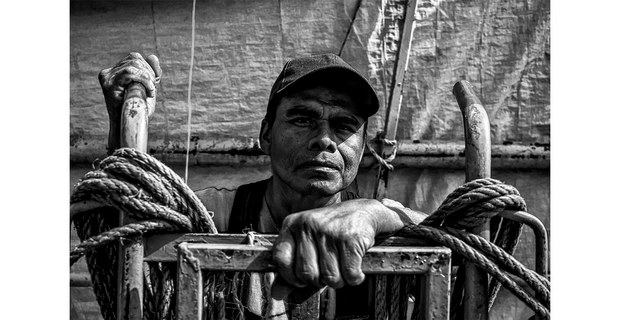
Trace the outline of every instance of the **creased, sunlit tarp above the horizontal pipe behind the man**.
<path fill-rule="evenodd" d="M 373 136 L 383 127 L 404 3 L 361 1 L 355 12 L 357 0 L 198 1 L 197 148 L 254 145 L 284 62 L 341 47 L 380 95 Z M 467 79 L 487 108 L 493 143 L 549 142 L 548 0 L 418 0 L 416 20 L 398 139 L 462 142 L 451 89 Z M 185 149 L 190 44 L 191 2 L 71 2 L 72 159 L 105 154 L 108 120 L 97 73 L 131 51 L 158 55 L 164 70 L 149 146 Z"/>

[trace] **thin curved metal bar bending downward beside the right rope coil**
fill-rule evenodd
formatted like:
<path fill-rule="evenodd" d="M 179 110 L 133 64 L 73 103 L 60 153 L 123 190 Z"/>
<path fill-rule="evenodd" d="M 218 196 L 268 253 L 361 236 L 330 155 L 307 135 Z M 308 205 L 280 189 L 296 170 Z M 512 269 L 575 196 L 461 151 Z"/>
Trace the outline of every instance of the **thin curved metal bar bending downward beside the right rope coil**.
<path fill-rule="evenodd" d="M 536 238 L 536 272 L 549 278 L 549 238 L 545 225 L 531 213 L 525 211 L 505 210 L 499 214 L 502 218 L 526 224 L 534 231 Z"/>

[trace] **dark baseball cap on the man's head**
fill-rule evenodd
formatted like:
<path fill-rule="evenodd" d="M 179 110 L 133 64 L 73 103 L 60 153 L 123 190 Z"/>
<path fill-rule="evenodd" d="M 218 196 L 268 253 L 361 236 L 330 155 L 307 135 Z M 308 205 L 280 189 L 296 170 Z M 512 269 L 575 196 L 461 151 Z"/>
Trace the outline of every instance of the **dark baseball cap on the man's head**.
<path fill-rule="evenodd" d="M 267 115 L 275 114 L 277 101 L 304 85 L 348 82 L 349 93 L 359 101 L 360 113 L 370 117 L 379 110 L 379 98 L 368 80 L 339 56 L 328 53 L 289 60 L 271 87 Z"/>

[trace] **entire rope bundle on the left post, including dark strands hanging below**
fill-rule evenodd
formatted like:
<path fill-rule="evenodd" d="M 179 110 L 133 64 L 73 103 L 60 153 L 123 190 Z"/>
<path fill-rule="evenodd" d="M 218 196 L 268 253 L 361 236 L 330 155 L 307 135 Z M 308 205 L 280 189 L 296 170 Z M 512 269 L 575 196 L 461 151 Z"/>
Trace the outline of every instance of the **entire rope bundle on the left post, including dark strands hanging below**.
<path fill-rule="evenodd" d="M 211 215 L 183 180 L 157 159 L 134 149 L 116 150 L 76 184 L 71 203 L 92 200 L 107 207 L 72 217 L 82 242 L 71 250 L 70 262 L 86 255 L 105 319 L 116 319 L 118 249 L 109 244 L 147 233 L 217 233 Z M 119 211 L 139 221 L 118 226 Z M 145 319 L 172 319 L 176 272 L 157 263 L 147 264 L 145 273 Z"/>

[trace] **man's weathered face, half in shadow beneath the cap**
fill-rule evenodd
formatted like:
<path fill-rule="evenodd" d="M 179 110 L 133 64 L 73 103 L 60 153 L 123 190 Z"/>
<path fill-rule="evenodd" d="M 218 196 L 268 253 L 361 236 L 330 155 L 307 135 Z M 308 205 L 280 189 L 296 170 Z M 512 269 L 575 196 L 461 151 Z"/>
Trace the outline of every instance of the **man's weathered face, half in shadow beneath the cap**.
<path fill-rule="evenodd" d="M 276 178 L 301 194 L 331 196 L 355 176 L 364 150 L 364 122 L 345 93 L 312 87 L 283 97 L 261 145 Z"/>

